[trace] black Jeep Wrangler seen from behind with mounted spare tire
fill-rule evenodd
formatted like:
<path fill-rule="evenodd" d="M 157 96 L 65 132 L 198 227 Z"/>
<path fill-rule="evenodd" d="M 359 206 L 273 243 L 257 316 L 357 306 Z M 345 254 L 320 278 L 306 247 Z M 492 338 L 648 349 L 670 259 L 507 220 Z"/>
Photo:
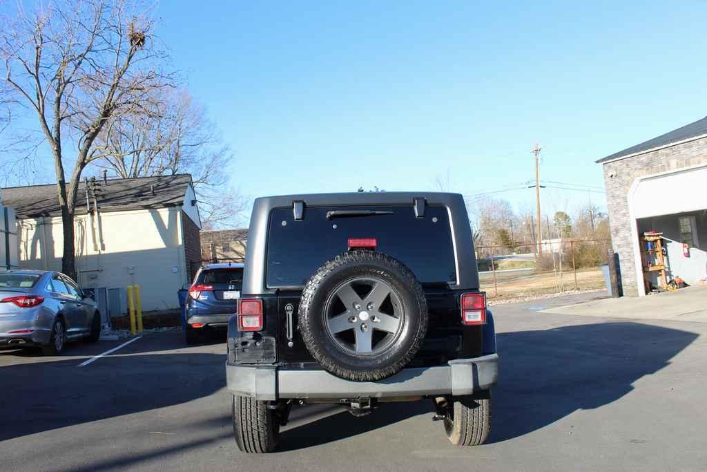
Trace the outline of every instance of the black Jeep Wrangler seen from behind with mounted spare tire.
<path fill-rule="evenodd" d="M 255 200 L 226 362 L 242 451 L 272 451 L 293 402 L 358 416 L 423 398 L 452 444 L 481 444 L 497 377 L 461 195 Z"/>

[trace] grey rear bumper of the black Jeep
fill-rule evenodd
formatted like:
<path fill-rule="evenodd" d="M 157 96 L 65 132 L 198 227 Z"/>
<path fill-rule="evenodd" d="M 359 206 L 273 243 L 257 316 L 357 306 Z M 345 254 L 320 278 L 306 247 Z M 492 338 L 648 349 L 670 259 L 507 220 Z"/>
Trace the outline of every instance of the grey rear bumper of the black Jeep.
<path fill-rule="evenodd" d="M 323 369 L 226 364 L 226 386 L 235 395 L 279 398 L 386 398 L 470 395 L 498 380 L 498 354 L 457 359 L 448 365 L 411 367 L 375 382 L 354 382 Z"/>

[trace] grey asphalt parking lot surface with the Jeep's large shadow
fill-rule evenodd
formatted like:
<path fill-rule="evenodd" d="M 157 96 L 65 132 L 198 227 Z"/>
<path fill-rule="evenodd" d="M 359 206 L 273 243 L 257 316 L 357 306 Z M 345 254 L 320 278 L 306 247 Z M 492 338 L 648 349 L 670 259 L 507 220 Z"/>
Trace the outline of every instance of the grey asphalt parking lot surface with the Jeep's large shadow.
<path fill-rule="evenodd" d="M 501 379 L 475 448 L 452 447 L 423 402 L 296 408 L 278 452 L 241 454 L 219 338 L 146 334 L 83 367 L 124 341 L 0 351 L 0 469 L 706 470 L 707 324 L 539 313 L 591 297 L 493 308 Z"/>

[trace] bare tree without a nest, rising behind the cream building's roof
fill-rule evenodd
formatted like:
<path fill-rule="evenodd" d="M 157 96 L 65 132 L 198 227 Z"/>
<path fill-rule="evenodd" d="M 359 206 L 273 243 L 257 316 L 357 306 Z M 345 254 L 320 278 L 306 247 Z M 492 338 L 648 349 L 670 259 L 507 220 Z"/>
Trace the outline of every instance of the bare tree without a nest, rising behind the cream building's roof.
<path fill-rule="evenodd" d="M 96 139 L 95 166 L 122 178 L 190 173 L 204 226 L 236 224 L 248 202 L 229 185 L 233 153 L 204 108 L 181 89 L 144 104 L 109 120 Z"/>

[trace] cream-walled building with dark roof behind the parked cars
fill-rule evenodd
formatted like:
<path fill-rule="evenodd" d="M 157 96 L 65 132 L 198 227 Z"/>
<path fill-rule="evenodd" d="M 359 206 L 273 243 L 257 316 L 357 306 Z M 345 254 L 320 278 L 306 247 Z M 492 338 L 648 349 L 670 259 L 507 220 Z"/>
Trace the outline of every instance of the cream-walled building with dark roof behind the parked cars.
<path fill-rule="evenodd" d="M 2 196 L 16 210 L 20 267 L 62 270 L 57 186 L 5 188 Z M 201 260 L 191 175 L 82 182 L 74 227 L 81 287 L 124 294 L 127 285 L 139 284 L 144 311 L 179 307 L 177 290 Z"/>

